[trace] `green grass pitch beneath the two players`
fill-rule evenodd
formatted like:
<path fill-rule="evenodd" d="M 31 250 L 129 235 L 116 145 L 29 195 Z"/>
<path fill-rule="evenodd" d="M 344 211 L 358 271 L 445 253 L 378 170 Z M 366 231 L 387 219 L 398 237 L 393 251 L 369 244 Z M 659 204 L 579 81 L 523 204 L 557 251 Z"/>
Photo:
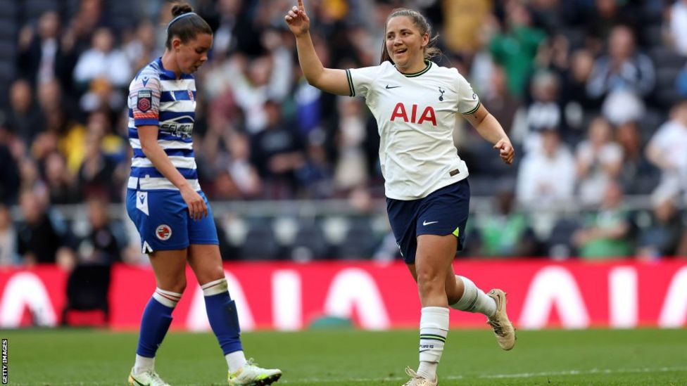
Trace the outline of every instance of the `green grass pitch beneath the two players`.
<path fill-rule="evenodd" d="M 10 385 L 126 385 L 136 333 L 0 330 Z M 277 385 L 402 385 L 417 331 L 244 333 L 247 356 L 279 367 Z M 156 370 L 172 385 L 226 385 L 215 337 L 171 332 Z M 519 331 L 503 352 L 489 330 L 450 331 L 439 385 L 687 385 L 687 330 Z"/>

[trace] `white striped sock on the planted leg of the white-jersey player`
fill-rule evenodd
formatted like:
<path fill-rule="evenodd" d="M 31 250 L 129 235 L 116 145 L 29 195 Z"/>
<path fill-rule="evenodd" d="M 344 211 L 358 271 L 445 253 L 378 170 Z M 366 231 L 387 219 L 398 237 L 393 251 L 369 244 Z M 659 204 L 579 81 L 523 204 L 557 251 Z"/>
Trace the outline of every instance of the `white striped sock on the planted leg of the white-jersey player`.
<path fill-rule="evenodd" d="M 446 335 L 448 335 L 448 308 L 422 307 L 418 375 L 428 380 L 436 378 L 436 367 L 439 366 Z"/>

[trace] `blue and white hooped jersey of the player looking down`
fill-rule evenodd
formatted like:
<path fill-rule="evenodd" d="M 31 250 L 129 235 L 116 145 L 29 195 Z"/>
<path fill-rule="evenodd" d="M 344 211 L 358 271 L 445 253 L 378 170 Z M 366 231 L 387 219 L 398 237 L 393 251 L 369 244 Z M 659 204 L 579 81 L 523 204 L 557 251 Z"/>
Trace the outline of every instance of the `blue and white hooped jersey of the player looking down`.
<path fill-rule="evenodd" d="M 193 75 L 177 79 L 165 70 L 161 58 L 143 67 L 129 86 L 129 143 L 134 149 L 127 188 L 139 191 L 178 188 L 153 166 L 141 150 L 138 127 L 158 127 L 158 143 L 196 191 L 198 172 L 194 157 L 193 132 L 196 117 L 196 82 Z"/>

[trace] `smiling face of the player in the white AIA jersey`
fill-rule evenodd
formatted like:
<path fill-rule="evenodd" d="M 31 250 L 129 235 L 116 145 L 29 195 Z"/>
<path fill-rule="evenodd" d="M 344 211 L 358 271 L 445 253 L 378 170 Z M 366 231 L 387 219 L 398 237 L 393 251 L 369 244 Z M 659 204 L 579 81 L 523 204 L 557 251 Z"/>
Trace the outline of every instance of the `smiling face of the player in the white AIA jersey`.
<path fill-rule="evenodd" d="M 386 22 L 386 51 L 403 72 L 417 72 L 424 65 L 424 49 L 429 34 L 420 32 L 408 16 L 394 16 Z"/>

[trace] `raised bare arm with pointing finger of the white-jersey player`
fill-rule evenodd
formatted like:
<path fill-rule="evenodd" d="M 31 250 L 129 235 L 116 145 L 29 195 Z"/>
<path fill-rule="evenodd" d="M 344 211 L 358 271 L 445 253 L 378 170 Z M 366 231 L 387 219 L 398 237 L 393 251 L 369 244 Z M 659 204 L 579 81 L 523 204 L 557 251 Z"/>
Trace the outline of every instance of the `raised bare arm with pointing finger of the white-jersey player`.
<path fill-rule="evenodd" d="M 303 0 L 298 0 L 298 6 L 291 8 L 284 16 L 284 20 L 296 37 L 298 63 L 301 64 L 301 70 L 308 83 L 328 93 L 351 95 L 346 71 L 325 68 L 317 57 L 313 39 L 310 38 L 310 18 L 305 13 Z"/>

